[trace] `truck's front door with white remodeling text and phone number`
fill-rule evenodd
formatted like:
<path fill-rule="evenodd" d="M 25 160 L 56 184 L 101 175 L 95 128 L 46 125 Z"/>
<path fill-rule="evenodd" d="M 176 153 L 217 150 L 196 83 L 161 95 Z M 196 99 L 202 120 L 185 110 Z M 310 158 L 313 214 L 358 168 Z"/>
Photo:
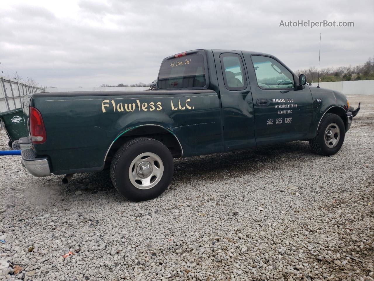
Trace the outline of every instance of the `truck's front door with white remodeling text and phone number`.
<path fill-rule="evenodd" d="M 244 55 L 251 83 L 258 146 L 308 137 L 312 122 L 312 94 L 298 90 L 294 75 L 275 57 Z"/>

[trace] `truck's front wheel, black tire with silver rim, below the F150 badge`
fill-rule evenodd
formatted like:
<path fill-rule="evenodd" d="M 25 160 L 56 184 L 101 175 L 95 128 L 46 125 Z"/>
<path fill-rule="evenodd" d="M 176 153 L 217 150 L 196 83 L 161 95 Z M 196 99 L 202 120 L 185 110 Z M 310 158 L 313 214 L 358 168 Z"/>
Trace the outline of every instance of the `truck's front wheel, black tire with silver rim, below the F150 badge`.
<path fill-rule="evenodd" d="M 343 120 L 336 115 L 326 114 L 319 124 L 315 138 L 309 140 L 310 148 L 320 155 L 333 155 L 343 145 L 346 129 Z"/>

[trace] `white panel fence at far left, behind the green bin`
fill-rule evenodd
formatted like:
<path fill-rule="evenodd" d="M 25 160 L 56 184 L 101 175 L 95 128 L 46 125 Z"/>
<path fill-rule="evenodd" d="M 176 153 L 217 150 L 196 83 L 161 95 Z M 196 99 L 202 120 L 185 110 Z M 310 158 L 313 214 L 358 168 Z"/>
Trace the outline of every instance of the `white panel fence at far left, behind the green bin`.
<path fill-rule="evenodd" d="M 36 92 L 44 89 L 0 77 L 0 112 L 20 108 L 25 94 Z"/>

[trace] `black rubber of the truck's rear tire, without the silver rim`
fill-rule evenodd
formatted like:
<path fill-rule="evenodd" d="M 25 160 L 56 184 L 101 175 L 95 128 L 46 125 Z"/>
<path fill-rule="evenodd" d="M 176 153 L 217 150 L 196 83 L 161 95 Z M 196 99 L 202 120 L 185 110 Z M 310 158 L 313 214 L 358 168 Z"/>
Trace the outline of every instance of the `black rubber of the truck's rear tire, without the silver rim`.
<path fill-rule="evenodd" d="M 163 174 L 153 187 L 140 189 L 131 182 L 129 169 L 132 161 L 145 152 L 156 154 L 162 160 Z M 169 186 L 173 173 L 174 161 L 171 152 L 163 143 L 150 138 L 136 138 L 126 142 L 114 154 L 110 165 L 110 178 L 114 187 L 133 201 L 150 200 L 159 196 Z"/>

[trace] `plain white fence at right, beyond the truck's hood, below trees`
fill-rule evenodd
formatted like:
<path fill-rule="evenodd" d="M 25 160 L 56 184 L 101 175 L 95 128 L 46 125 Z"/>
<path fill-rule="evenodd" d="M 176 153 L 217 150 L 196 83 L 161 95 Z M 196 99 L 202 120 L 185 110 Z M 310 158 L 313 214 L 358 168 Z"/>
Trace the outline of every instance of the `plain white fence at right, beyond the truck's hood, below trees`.
<path fill-rule="evenodd" d="M 312 86 L 316 87 L 317 83 L 313 83 Z M 374 95 L 374 80 L 320 82 L 319 87 L 346 95 Z"/>

